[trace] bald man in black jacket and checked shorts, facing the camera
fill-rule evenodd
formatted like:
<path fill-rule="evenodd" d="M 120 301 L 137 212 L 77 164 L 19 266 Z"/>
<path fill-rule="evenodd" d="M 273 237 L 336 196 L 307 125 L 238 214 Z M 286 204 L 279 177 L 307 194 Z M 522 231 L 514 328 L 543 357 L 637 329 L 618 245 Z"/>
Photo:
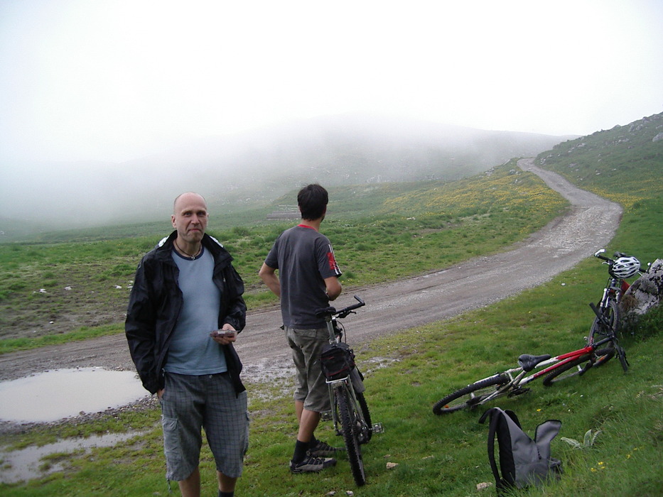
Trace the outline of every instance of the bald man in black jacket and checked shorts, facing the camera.
<path fill-rule="evenodd" d="M 205 428 L 220 496 L 232 496 L 248 447 L 242 363 L 232 345 L 246 322 L 244 283 L 232 257 L 205 234 L 207 204 L 176 198 L 175 231 L 136 271 L 125 332 L 143 386 L 161 402 L 166 477 L 183 496 L 200 495 L 198 461 Z"/>

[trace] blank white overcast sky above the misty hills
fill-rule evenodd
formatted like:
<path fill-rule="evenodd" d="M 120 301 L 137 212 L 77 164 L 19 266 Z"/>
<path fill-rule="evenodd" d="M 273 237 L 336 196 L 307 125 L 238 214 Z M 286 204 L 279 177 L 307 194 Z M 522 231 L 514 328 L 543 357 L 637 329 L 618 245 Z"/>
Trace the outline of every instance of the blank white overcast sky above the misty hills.
<path fill-rule="evenodd" d="M 663 111 L 663 1 L 0 0 L 0 167 L 346 112 L 588 134 Z"/>

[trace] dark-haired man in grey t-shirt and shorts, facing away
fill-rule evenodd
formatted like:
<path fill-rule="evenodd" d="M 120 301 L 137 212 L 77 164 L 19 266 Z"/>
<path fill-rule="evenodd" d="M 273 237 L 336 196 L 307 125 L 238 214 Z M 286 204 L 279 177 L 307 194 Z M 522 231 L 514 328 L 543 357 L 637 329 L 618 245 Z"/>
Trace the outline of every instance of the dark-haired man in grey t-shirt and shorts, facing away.
<path fill-rule="evenodd" d="M 303 473 L 333 466 L 336 460 L 327 456 L 340 450 L 317 440 L 313 433 L 320 413 L 330 410 L 325 376 L 320 369 L 320 351 L 329 343 L 329 335 L 325 321 L 316 317 L 316 310 L 328 307 L 342 287 L 332 246 L 320 234 L 320 223 L 327 212 L 327 190 L 308 185 L 299 191 L 297 202 L 301 223 L 276 239 L 259 275 L 281 297 L 281 315 L 298 383 L 294 399 L 299 430 L 290 470 Z"/>

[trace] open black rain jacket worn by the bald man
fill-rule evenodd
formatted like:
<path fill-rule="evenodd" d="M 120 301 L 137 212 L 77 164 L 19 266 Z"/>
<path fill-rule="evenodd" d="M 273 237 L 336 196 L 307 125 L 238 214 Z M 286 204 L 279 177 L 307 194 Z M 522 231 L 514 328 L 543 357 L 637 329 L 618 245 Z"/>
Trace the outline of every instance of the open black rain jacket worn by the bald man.
<path fill-rule="evenodd" d="M 141 259 L 126 310 L 124 332 L 131 359 L 150 393 L 164 386 L 163 366 L 168 360 L 168 344 L 183 303 L 178 287 L 179 270 L 171 253 L 176 236 L 177 231 L 173 231 Z M 232 256 L 216 239 L 205 234 L 202 243 L 215 261 L 212 280 L 221 291 L 219 328 L 228 323 L 239 333 L 247 315 L 242 297 L 244 282 L 232 267 Z M 235 392 L 239 394 L 245 390 L 239 379 L 242 362 L 232 344 L 222 345 L 222 348 Z"/>

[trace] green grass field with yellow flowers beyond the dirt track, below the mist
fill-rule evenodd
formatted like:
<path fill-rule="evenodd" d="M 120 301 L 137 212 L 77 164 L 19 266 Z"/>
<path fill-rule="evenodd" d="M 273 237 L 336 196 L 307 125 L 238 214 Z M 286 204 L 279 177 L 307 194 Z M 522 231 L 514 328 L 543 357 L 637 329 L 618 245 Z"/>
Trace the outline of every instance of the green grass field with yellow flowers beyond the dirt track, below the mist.
<path fill-rule="evenodd" d="M 324 233 L 333 242 L 347 289 L 500 250 L 544 226 L 566 205 L 537 176 L 512 165 L 462 182 L 340 189 L 330 195 Z M 220 229 L 225 222 L 212 217 L 210 233 L 234 256 L 247 284 L 249 309 L 275 302 L 257 271 L 276 236 L 293 222 L 256 217 L 252 225 Z M 135 268 L 168 234 L 166 225 L 145 228 L 158 227 L 158 234 L 149 236 L 126 236 L 119 226 L 96 240 L 85 231 L 71 234 L 73 241 L 53 234 L 0 244 L 0 353 L 121 331 Z"/>

